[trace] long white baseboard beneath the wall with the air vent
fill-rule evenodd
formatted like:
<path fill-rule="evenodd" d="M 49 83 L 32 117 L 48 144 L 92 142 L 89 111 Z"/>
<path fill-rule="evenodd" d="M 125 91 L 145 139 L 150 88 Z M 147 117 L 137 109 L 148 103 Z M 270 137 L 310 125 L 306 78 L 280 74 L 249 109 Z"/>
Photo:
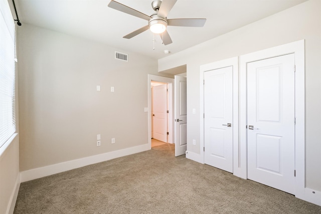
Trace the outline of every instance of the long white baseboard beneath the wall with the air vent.
<path fill-rule="evenodd" d="M 117 157 L 123 157 L 126 155 L 147 151 L 150 149 L 150 144 L 143 144 L 130 148 L 120 149 L 117 151 L 107 152 L 94 156 L 84 157 L 76 160 L 70 160 L 62 163 L 57 163 L 40 168 L 30 169 L 21 172 L 21 182 L 34 180 L 37 178 L 45 177 L 52 174 L 68 171 L 71 169 L 87 166 L 94 163 L 99 163 L 106 160 L 111 160 Z"/>

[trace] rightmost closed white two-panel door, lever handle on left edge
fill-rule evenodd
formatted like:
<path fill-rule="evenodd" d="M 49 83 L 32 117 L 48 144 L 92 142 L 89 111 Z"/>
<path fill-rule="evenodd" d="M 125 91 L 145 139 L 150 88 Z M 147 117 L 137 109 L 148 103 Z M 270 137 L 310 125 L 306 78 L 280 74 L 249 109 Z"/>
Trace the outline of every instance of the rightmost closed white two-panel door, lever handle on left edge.
<path fill-rule="evenodd" d="M 294 118 L 294 54 L 248 63 L 248 178 L 292 194 Z"/>

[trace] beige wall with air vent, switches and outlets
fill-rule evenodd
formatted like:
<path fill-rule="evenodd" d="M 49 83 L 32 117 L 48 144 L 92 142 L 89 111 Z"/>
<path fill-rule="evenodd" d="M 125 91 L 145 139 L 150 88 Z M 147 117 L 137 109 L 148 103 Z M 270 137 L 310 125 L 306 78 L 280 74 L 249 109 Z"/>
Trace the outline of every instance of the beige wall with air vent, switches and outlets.
<path fill-rule="evenodd" d="M 156 60 L 27 24 L 18 30 L 21 171 L 147 143 Z"/>

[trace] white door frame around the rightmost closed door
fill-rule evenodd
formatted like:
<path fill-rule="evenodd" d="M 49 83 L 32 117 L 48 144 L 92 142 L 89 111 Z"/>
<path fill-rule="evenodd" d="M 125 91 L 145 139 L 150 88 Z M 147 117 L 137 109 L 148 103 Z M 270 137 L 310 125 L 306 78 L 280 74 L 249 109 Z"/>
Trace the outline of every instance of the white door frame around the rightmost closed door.
<path fill-rule="evenodd" d="M 240 56 L 240 143 L 236 159 L 238 168 L 234 174 L 247 179 L 247 63 L 290 53 L 295 54 L 295 196 L 304 198 L 304 40 Z"/>

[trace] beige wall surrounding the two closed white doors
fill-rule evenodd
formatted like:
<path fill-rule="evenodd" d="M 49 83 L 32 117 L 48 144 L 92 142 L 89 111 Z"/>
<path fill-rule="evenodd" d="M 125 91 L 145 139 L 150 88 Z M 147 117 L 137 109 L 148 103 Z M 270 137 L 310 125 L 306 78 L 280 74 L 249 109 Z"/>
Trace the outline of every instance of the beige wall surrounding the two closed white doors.
<path fill-rule="evenodd" d="M 321 190 L 321 2 L 311 0 L 158 61 L 187 65 L 188 150 L 200 153 L 200 65 L 305 40 L 306 187 Z M 192 140 L 197 139 L 193 145 Z"/>

